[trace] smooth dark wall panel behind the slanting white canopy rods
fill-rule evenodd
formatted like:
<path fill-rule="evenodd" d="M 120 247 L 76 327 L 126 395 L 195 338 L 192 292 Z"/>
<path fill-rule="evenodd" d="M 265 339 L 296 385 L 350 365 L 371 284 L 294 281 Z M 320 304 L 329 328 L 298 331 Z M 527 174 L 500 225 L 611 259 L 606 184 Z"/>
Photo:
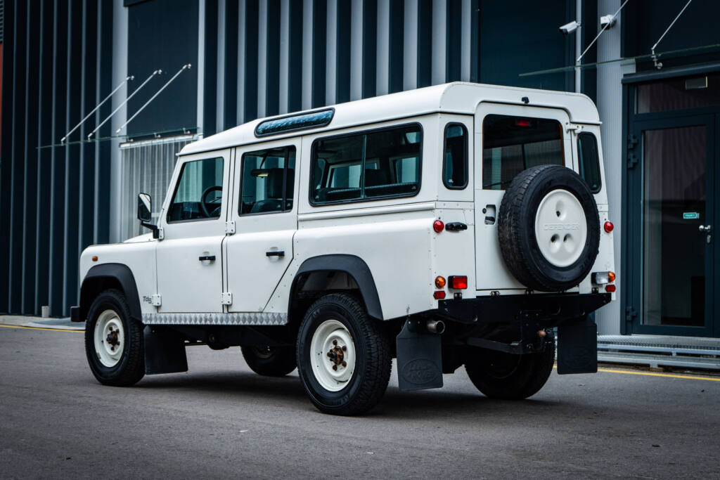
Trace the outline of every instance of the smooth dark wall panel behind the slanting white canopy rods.
<path fill-rule="evenodd" d="M 127 73 L 132 91 L 158 68 L 153 78 L 127 104 L 128 118 L 186 63 L 192 64 L 127 126 L 127 134 L 149 135 L 197 125 L 197 0 L 144 1 L 127 9 Z M 235 14 L 237 24 L 237 14 Z M 214 30 L 207 35 L 215 34 Z M 215 77 L 213 77 L 215 78 Z"/>

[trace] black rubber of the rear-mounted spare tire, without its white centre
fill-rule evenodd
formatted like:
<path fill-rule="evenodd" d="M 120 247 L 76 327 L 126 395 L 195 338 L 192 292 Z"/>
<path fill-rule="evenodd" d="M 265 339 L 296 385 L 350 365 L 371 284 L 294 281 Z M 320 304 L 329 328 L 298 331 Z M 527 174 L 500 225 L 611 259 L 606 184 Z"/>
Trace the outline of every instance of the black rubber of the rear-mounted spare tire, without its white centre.
<path fill-rule="evenodd" d="M 541 201 L 553 190 L 561 189 L 580 201 L 588 227 L 580 256 L 568 266 L 556 266 L 548 261 L 541 253 L 535 234 Z M 588 276 L 598 256 L 598 206 L 588 184 L 570 168 L 559 165 L 528 168 L 519 173 L 505 191 L 498 212 L 498 237 L 505 265 L 518 281 L 531 290 L 564 291 Z"/>

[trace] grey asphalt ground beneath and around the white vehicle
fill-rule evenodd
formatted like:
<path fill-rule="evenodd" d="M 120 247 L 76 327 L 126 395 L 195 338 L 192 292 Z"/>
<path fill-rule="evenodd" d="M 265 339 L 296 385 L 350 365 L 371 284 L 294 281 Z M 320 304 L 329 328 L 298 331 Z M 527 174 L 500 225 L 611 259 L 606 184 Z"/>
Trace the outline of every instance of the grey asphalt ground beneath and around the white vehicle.
<path fill-rule="evenodd" d="M 553 373 L 522 402 L 395 374 L 364 417 L 323 415 L 297 373 L 188 348 L 188 373 L 102 386 L 82 332 L 0 327 L 1 478 L 720 478 L 720 378 Z"/>

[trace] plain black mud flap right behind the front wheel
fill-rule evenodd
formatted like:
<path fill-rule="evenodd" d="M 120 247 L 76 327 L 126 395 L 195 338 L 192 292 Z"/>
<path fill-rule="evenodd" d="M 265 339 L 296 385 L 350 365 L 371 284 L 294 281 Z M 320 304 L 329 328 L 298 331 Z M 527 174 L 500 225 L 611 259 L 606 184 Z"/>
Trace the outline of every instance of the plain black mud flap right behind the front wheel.
<path fill-rule="evenodd" d="M 187 371 L 185 341 L 172 330 L 145 326 L 145 375 Z"/>

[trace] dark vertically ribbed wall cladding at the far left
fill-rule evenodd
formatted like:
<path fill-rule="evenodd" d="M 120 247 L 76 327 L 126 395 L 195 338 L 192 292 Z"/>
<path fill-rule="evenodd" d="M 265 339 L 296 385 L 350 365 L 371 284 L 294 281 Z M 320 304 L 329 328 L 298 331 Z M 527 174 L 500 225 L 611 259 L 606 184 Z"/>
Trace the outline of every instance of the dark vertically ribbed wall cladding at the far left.
<path fill-rule="evenodd" d="M 48 145 L 112 90 L 112 3 L 6 0 L 4 29 L 0 312 L 59 316 L 76 303 L 81 250 L 108 240 L 109 150 L 72 143 L 89 127 Z"/>

